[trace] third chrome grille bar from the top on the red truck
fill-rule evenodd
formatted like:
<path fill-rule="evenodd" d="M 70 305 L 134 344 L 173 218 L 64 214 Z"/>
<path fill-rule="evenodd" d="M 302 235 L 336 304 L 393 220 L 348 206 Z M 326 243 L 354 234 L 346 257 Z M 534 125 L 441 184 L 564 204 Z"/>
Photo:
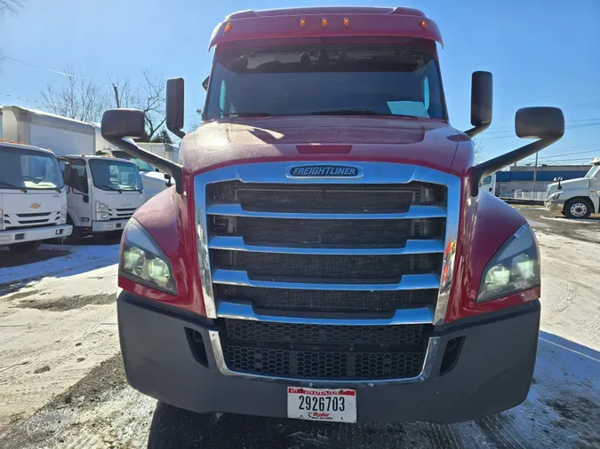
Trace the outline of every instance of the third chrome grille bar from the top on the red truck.
<path fill-rule="evenodd" d="M 405 274 L 397 284 L 319 284 L 308 282 L 277 282 L 270 280 L 250 280 L 247 272 L 217 269 L 212 272 L 212 282 L 234 286 L 260 288 L 290 288 L 297 290 L 418 290 L 439 288 L 440 280 L 435 274 Z"/>

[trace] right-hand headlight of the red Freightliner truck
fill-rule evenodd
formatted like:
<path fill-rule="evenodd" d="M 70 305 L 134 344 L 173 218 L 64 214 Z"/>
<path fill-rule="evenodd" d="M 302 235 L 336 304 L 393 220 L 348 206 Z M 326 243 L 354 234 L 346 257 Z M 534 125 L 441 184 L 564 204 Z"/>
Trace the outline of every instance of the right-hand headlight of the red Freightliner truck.
<path fill-rule="evenodd" d="M 529 225 L 521 226 L 485 267 L 477 302 L 540 285 L 540 256 Z"/>

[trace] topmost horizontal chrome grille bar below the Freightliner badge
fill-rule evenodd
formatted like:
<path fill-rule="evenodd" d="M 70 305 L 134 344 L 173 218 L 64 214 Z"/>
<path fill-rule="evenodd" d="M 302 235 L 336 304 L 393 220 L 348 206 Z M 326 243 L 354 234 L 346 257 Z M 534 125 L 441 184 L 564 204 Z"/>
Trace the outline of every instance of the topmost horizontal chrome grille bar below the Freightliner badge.
<path fill-rule="evenodd" d="M 324 220 L 401 220 L 405 218 L 439 218 L 446 217 L 446 209 L 437 206 L 412 206 L 408 212 L 397 214 L 312 214 L 302 212 L 266 212 L 244 210 L 241 204 L 213 204 L 206 210 L 208 215 L 228 217 L 260 217 L 260 218 L 305 218 Z"/>

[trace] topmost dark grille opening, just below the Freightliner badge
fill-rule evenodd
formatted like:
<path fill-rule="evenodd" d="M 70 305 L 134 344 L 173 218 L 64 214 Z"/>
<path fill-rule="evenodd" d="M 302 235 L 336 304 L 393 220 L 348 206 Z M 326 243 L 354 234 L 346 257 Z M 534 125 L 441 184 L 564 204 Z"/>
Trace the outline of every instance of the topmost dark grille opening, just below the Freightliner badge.
<path fill-rule="evenodd" d="M 411 204 L 443 201 L 444 193 L 444 186 L 427 183 L 252 185 L 239 181 L 208 185 L 206 191 L 209 204 L 240 203 L 245 210 L 365 214 L 405 212 Z"/>

